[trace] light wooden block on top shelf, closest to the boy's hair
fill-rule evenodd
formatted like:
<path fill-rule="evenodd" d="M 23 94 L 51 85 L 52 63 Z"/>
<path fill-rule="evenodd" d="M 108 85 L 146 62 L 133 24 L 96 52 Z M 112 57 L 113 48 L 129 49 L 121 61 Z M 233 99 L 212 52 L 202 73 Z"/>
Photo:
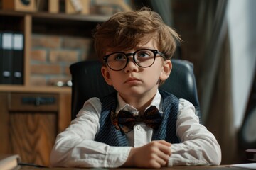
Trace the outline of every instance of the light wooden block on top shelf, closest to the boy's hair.
<path fill-rule="evenodd" d="M 90 13 L 90 0 L 65 0 L 65 13 Z"/>

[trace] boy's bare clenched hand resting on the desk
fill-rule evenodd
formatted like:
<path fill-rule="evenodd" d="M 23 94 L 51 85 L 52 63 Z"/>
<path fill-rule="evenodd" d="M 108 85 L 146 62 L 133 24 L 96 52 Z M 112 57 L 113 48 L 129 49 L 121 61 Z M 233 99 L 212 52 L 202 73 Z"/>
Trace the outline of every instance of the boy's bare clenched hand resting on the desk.
<path fill-rule="evenodd" d="M 161 168 L 168 164 L 171 156 L 171 143 L 165 140 L 149 142 L 142 147 L 132 148 L 123 166 L 141 168 Z"/>

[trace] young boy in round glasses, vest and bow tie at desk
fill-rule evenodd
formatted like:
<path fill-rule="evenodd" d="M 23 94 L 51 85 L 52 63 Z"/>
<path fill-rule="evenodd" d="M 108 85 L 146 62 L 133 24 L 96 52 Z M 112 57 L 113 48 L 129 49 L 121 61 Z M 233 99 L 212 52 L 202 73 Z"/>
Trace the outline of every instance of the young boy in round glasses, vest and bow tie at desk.
<path fill-rule="evenodd" d="M 102 76 L 117 92 L 85 102 L 58 135 L 51 165 L 220 164 L 220 146 L 199 123 L 194 106 L 158 89 L 171 72 L 170 59 L 180 40 L 177 33 L 157 13 L 142 8 L 115 14 L 97 26 L 94 37 Z"/>

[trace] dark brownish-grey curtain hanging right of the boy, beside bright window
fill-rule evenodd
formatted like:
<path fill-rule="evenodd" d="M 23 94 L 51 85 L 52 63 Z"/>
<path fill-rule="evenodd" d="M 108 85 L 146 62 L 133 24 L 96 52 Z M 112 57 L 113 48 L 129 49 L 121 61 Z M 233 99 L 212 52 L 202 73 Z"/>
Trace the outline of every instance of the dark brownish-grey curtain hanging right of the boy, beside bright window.
<path fill-rule="evenodd" d="M 230 42 L 225 17 L 228 1 L 204 1 L 201 21 L 205 50 L 198 90 L 203 124 L 215 135 L 222 149 L 222 163 L 238 161 L 236 130 L 233 129 L 233 101 Z M 203 24 L 205 23 L 205 24 Z"/>

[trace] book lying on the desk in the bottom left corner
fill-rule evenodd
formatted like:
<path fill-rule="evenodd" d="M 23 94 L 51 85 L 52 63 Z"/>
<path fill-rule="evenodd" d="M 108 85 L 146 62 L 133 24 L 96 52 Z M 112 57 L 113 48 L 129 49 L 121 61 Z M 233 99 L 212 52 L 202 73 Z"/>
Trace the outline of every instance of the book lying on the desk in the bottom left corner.
<path fill-rule="evenodd" d="M 14 170 L 19 169 L 18 163 L 21 157 L 18 154 L 0 154 L 0 169 L 1 170 Z"/>

